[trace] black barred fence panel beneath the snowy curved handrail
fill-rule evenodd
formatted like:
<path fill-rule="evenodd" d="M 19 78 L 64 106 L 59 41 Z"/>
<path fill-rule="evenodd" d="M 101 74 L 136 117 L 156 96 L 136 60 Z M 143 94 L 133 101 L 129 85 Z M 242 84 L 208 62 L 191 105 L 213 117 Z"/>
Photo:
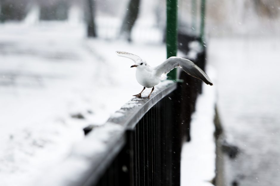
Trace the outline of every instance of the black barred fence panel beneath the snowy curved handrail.
<path fill-rule="evenodd" d="M 175 84 L 171 86 L 175 87 Z M 164 98 L 156 102 L 149 100 L 154 105 L 137 123 L 127 126 L 126 144 L 98 186 L 180 185 L 182 138 L 176 115 L 180 107 L 175 101 L 176 90 L 169 94 L 162 90 Z M 140 117 L 143 111 L 135 117 Z"/>

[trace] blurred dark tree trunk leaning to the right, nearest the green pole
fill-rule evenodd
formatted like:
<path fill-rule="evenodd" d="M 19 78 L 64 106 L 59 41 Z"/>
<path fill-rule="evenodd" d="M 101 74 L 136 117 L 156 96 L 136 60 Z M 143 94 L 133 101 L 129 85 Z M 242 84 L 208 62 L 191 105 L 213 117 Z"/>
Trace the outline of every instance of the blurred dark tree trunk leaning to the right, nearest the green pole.
<path fill-rule="evenodd" d="M 123 19 L 120 37 L 131 42 L 131 30 L 138 17 L 140 0 L 130 0 L 125 18 Z"/>

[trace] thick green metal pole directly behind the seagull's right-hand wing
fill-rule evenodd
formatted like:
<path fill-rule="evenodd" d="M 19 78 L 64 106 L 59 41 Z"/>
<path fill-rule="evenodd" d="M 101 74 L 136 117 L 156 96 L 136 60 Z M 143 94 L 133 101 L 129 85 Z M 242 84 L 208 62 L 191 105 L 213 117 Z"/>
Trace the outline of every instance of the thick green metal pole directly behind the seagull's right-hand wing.
<path fill-rule="evenodd" d="M 167 58 L 177 55 L 177 39 L 178 39 L 178 1 L 166 0 L 166 50 Z M 173 69 L 168 73 L 169 80 L 176 80 L 176 69 Z"/>

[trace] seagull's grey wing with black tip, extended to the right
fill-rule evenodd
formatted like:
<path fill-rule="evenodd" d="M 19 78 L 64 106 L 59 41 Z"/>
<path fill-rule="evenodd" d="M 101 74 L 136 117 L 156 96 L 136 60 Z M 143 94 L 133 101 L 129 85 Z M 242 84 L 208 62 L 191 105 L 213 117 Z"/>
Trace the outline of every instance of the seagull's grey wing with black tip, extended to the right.
<path fill-rule="evenodd" d="M 201 70 L 197 65 L 195 65 L 195 63 L 188 59 L 170 57 L 166 61 L 161 63 L 159 66 L 156 66 L 154 70 L 155 74 L 157 76 L 160 76 L 161 74 L 168 73 L 176 67 L 181 67 L 183 71 L 185 71 L 187 74 L 204 81 L 207 85 L 213 85 L 207 74 L 203 70 Z"/>

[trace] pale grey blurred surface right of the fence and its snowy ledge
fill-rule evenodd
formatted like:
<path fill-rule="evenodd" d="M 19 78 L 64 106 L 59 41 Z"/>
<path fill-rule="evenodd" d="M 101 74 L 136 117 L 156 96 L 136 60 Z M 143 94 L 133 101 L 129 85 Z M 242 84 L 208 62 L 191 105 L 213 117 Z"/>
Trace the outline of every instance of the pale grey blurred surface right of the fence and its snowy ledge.
<path fill-rule="evenodd" d="M 208 60 L 217 69 L 218 106 L 229 143 L 227 185 L 279 185 L 280 38 L 212 38 Z"/>

